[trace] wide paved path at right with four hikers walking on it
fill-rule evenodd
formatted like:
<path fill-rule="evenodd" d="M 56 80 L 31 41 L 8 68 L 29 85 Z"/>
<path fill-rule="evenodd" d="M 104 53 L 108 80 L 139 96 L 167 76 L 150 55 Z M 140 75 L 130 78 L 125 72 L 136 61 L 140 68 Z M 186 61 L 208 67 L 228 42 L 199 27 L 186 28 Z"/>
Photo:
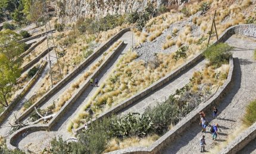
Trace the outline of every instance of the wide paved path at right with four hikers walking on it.
<path fill-rule="evenodd" d="M 219 111 L 218 118 L 212 120 L 211 113 L 207 113 L 210 124 L 218 123 L 221 129 L 220 136 L 214 142 L 211 140 L 210 133 L 205 134 L 205 142 L 207 143 L 205 149 L 207 151 L 226 141 L 228 134 L 240 126 L 246 105 L 254 100 L 256 95 L 256 62 L 253 60 L 253 51 L 256 49 L 255 41 L 232 36 L 226 42 L 236 47 L 233 51 L 234 85 L 233 89 L 217 107 Z M 189 131 L 169 143 L 166 149 L 163 149 L 163 153 L 199 153 L 199 139 L 202 133 L 198 123 L 192 123 Z"/>

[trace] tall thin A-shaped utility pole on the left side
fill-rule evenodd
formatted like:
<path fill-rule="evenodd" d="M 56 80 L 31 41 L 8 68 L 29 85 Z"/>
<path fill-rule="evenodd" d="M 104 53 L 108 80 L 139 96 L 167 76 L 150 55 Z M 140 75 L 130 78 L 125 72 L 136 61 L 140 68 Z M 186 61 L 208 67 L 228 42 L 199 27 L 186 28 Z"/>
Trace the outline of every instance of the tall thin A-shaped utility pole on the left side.
<path fill-rule="evenodd" d="M 52 28 L 51 28 L 51 24 L 50 24 L 50 18 L 49 18 L 49 14 L 47 11 L 47 5 L 46 5 L 46 0 L 43 1 L 43 17 L 45 20 L 45 33 L 46 33 L 46 40 L 47 40 L 47 50 L 48 50 L 48 58 L 49 58 L 49 65 L 50 65 L 50 76 L 51 76 L 51 83 L 52 83 L 52 87 L 54 86 L 53 84 L 53 80 L 55 80 L 53 78 L 53 71 L 52 71 L 52 62 L 51 62 L 51 57 L 57 59 L 57 65 L 58 65 L 58 73 L 62 78 L 61 75 L 61 69 L 60 69 L 60 64 L 58 62 L 58 55 L 57 55 L 57 51 L 56 51 L 56 46 L 55 46 L 55 42 L 54 42 L 54 37 L 52 35 Z M 54 50 L 55 53 L 55 57 L 50 55 L 51 50 Z"/>

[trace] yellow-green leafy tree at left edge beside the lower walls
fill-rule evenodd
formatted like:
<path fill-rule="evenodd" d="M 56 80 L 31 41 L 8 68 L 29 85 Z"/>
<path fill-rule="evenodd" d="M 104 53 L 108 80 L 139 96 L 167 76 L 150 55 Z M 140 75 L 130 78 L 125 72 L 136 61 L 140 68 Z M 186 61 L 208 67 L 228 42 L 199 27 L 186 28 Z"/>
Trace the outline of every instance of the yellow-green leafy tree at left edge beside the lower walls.
<path fill-rule="evenodd" d="M 5 54 L 0 53 L 0 70 L 0 103 L 7 107 L 13 86 L 20 77 L 20 69 Z"/>

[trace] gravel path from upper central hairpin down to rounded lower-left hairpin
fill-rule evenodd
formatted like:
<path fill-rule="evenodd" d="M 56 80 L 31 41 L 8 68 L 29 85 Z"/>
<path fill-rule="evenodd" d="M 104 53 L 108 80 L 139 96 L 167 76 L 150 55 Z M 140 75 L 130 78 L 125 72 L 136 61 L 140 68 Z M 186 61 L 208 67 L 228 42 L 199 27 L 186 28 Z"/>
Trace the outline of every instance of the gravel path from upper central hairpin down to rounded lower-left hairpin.
<path fill-rule="evenodd" d="M 111 60 L 110 63 L 102 70 L 102 72 L 97 76 L 99 79 L 99 83 L 104 81 L 105 78 L 107 78 L 108 73 L 110 73 L 111 69 L 114 67 L 114 63 L 117 62 L 117 59 L 119 59 L 124 52 L 127 52 L 127 50 L 132 46 L 131 44 L 131 35 L 132 33 L 129 31 L 120 38 L 124 41 L 124 43 L 127 43 L 127 45 L 121 50 L 120 53 L 116 54 L 114 56 L 114 59 Z M 96 60 L 95 60 L 96 62 Z M 76 81 L 76 79 L 73 79 L 71 81 Z M 66 89 L 66 86 L 64 87 Z M 70 133 L 67 132 L 67 123 L 68 121 L 74 117 L 74 115 L 77 114 L 79 111 L 79 108 L 82 107 L 83 104 L 86 103 L 88 100 L 88 96 L 92 95 L 93 92 L 95 92 L 97 87 L 89 86 L 83 94 L 80 96 L 80 98 L 72 105 L 70 110 L 65 113 L 65 116 L 58 121 L 58 123 L 55 123 L 55 126 L 52 131 L 36 131 L 33 133 L 28 134 L 23 139 L 19 139 L 17 141 L 18 147 L 23 150 L 32 150 L 33 152 L 40 152 L 44 147 L 49 146 L 49 142 L 55 137 L 55 136 L 63 136 L 64 140 L 69 139 L 72 137 Z M 62 90 L 62 89 L 61 89 Z M 59 92 L 57 92 L 54 97 L 57 97 Z M 61 94 L 61 92 L 60 92 Z M 50 100 L 53 100 L 52 98 Z M 48 101 L 50 102 L 50 101 Z M 46 104 L 49 104 L 49 103 Z M 42 107 L 46 107 L 46 104 L 44 104 Z M 33 143 L 33 144 L 32 144 Z"/>

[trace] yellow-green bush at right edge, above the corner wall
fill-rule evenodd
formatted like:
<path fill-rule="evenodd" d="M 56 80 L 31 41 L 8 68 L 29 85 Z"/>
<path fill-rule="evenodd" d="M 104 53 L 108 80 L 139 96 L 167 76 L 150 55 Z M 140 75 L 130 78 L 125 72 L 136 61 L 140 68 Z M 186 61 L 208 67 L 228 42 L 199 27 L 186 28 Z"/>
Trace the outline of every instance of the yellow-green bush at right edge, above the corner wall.
<path fill-rule="evenodd" d="M 245 123 L 248 126 L 251 126 L 255 122 L 256 122 L 256 100 L 252 101 L 246 107 L 246 113 L 243 118 L 243 123 Z"/>

